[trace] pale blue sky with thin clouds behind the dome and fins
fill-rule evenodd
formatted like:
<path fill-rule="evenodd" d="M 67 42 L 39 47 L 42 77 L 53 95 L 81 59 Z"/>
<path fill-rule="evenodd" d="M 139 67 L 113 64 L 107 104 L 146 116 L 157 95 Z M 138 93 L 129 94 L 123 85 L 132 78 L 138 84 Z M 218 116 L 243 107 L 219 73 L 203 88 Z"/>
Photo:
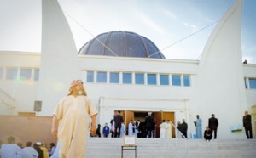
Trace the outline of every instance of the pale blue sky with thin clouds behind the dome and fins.
<path fill-rule="evenodd" d="M 58 0 L 77 50 L 99 34 L 131 31 L 166 59 L 200 59 L 216 22 L 236 0 Z M 41 0 L 0 0 L 0 50 L 40 52 Z M 256 64 L 256 0 L 244 0 L 242 60 Z"/>

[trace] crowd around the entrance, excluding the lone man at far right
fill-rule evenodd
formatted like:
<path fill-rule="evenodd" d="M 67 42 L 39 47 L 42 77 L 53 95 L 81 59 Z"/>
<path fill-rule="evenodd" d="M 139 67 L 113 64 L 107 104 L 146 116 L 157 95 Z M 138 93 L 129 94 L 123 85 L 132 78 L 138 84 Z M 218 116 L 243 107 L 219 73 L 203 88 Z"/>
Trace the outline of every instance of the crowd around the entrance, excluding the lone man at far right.
<path fill-rule="evenodd" d="M 202 120 L 199 115 L 196 116 L 196 121 L 194 121 L 196 127 L 196 136 L 195 138 L 202 137 Z M 135 136 L 136 138 L 154 138 L 156 123 L 154 116 L 151 112 L 148 112 L 148 116 L 145 118 L 145 122 L 140 120 L 133 121 L 131 120 L 128 123 L 128 128 L 126 130 L 123 116 L 121 116 L 120 111 L 118 114 L 113 116 L 113 119 L 110 121 L 110 127 L 108 123 L 105 123 L 105 126 L 102 128 L 102 133 L 104 138 L 108 138 L 108 135 L 111 133 L 111 138 L 122 138 L 124 135 Z M 160 127 L 160 138 L 172 138 L 172 122 L 170 120 L 162 120 Z M 212 117 L 208 120 L 208 126 L 206 127 L 204 138 L 206 140 L 211 140 L 212 135 L 214 138 L 217 138 L 217 129 L 218 129 L 218 119 L 215 118 L 215 115 L 212 114 Z M 188 124 L 183 119 L 182 122 L 177 121 L 177 130 L 179 132 L 178 136 L 181 138 L 188 138 Z M 101 137 L 101 125 L 98 125 L 97 136 Z M 177 137 L 178 137 L 177 136 Z"/>

